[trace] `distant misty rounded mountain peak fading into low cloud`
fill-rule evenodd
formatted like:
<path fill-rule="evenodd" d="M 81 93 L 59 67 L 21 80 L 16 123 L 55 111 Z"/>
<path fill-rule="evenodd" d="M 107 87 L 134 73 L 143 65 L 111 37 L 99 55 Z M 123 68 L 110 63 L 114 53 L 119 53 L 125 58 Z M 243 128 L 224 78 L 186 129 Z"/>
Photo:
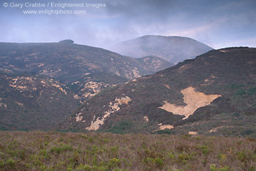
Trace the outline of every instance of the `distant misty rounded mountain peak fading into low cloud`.
<path fill-rule="evenodd" d="M 180 36 L 141 36 L 110 47 L 113 52 L 131 57 L 154 55 L 178 63 L 210 51 L 212 48 L 194 39 Z"/>

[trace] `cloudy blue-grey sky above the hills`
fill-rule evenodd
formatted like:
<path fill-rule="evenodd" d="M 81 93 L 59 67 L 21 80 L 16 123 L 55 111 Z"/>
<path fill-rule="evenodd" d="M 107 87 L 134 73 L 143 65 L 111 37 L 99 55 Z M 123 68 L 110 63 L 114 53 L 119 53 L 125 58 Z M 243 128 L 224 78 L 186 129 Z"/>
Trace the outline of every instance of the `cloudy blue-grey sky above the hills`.
<path fill-rule="evenodd" d="M 1 42 L 72 39 L 108 49 L 139 36 L 162 35 L 189 37 L 214 49 L 256 47 L 255 0 L 0 1 Z M 31 11 L 37 14 L 25 14 Z"/>

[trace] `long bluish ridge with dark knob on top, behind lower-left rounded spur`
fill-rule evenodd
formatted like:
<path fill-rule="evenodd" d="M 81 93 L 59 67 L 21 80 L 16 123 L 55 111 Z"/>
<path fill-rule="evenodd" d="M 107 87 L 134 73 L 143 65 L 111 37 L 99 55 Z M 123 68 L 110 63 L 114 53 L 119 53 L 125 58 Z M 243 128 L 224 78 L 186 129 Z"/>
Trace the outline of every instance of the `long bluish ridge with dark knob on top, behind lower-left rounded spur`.
<path fill-rule="evenodd" d="M 166 64 L 167 62 L 165 62 Z M 0 43 L 0 68 L 48 76 L 67 84 L 81 101 L 106 87 L 167 68 L 140 63 L 105 49 L 59 43 Z M 151 68 L 150 71 L 148 68 Z"/>

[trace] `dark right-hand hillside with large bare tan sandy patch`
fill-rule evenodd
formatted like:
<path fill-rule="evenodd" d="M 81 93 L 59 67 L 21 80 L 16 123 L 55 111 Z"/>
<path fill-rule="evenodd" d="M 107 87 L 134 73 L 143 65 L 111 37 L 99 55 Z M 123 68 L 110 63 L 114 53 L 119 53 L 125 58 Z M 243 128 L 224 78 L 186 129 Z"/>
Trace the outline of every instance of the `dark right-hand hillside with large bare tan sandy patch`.
<path fill-rule="evenodd" d="M 256 49 L 226 48 L 99 93 L 59 130 L 256 136 Z"/>

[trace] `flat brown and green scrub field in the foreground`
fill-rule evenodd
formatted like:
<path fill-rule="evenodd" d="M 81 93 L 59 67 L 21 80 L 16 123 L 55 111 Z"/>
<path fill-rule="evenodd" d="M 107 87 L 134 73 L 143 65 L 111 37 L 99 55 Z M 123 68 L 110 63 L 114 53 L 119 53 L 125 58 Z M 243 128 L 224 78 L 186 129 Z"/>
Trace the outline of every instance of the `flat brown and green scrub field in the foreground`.
<path fill-rule="evenodd" d="M 0 170 L 255 170 L 256 139 L 0 132 Z"/>

